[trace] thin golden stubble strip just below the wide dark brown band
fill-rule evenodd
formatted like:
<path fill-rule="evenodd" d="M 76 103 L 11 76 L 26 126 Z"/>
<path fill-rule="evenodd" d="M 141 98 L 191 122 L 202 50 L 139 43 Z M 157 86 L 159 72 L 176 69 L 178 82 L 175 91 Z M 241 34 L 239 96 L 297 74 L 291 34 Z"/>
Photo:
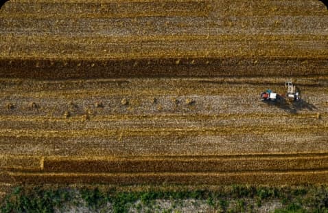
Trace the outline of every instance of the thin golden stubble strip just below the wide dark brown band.
<path fill-rule="evenodd" d="M 279 78 L 280 80 L 275 80 L 275 78 L 277 77 L 272 77 L 272 82 L 257 82 L 252 80 L 249 80 L 249 82 L 243 82 L 248 78 L 242 78 L 240 82 L 224 82 L 220 80 L 205 79 L 190 81 L 177 80 L 176 82 L 173 82 L 172 80 L 172 82 L 169 82 L 167 80 L 160 80 L 160 78 L 155 78 L 153 80 L 129 82 L 124 84 L 118 82 L 117 85 L 113 85 L 113 83 L 109 82 L 103 83 L 97 80 L 94 80 L 93 82 L 84 82 L 84 80 L 81 80 L 80 84 L 83 84 L 83 87 L 85 87 L 83 89 L 80 89 L 78 85 L 74 85 L 75 82 L 73 82 L 73 80 L 69 81 L 72 85 L 69 85 L 68 82 L 57 82 L 57 84 L 60 85 L 60 88 L 58 88 L 58 85 L 56 87 L 56 85 L 47 85 L 47 83 L 31 86 L 28 85 L 27 82 L 22 82 L 23 84 L 26 83 L 26 86 L 20 86 L 15 85 L 19 84 L 18 82 L 11 83 L 10 80 L 3 80 L 1 81 L 1 85 L 8 85 L 8 87 L 2 89 L 2 96 L 0 96 L 0 98 L 6 98 L 15 92 L 16 100 L 23 99 L 23 102 L 26 104 L 28 104 L 26 101 L 27 98 L 34 98 L 36 100 L 40 98 L 43 98 L 44 100 L 47 100 L 47 98 L 60 98 L 66 101 L 66 103 L 63 104 L 66 104 L 69 107 L 73 107 L 72 104 L 76 104 L 78 100 L 84 99 L 89 100 L 89 102 L 93 100 L 93 103 L 88 102 L 88 104 L 93 104 L 94 106 L 98 104 L 97 107 L 102 108 L 99 106 L 99 102 L 102 102 L 102 100 L 108 98 L 117 99 L 117 101 L 121 101 L 123 98 L 141 99 L 143 100 L 143 103 L 148 102 L 150 104 L 156 104 L 161 102 L 159 99 L 160 96 L 167 96 L 167 98 L 171 98 L 170 102 L 174 101 L 172 98 L 178 98 L 178 96 L 186 96 L 180 97 L 183 99 L 192 98 L 193 96 L 222 96 L 222 98 L 224 98 L 226 96 L 235 97 L 234 89 L 242 89 L 244 92 L 244 97 L 253 96 L 253 102 L 254 97 L 259 97 L 259 93 L 261 93 L 261 91 L 263 91 L 263 89 L 266 87 L 272 87 L 272 89 L 277 89 L 279 92 L 285 93 L 286 89 L 283 87 L 283 82 L 286 80 L 286 78 Z M 316 97 L 318 96 L 318 93 L 325 92 L 326 87 L 324 87 L 324 85 L 328 83 L 328 80 L 324 79 L 327 78 L 327 76 L 317 78 L 323 78 L 323 80 L 320 80 L 322 85 L 320 82 L 318 82 L 319 80 L 314 83 L 312 80 L 303 81 L 304 78 L 298 78 L 300 79 L 300 83 L 297 83 L 296 85 L 298 87 L 302 87 L 303 90 L 306 90 L 306 93 L 311 93 L 311 96 Z M 94 85 L 87 87 L 86 85 L 88 83 L 93 83 Z M 38 89 L 40 87 L 43 88 L 42 91 Z M 121 98 L 121 100 L 119 100 L 119 98 Z M 230 98 L 230 100 L 234 99 Z M 37 108 L 37 106 L 32 106 L 31 101 L 28 108 Z M 78 109 L 78 107 L 75 107 L 75 109 Z"/>

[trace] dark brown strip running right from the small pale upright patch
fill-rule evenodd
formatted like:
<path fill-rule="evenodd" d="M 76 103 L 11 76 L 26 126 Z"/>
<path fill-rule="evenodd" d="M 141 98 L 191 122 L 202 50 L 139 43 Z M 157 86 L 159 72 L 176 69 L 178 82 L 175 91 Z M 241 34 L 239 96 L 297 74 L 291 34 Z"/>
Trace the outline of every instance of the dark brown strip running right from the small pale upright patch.
<path fill-rule="evenodd" d="M 150 157 L 149 159 L 69 159 L 46 157 L 45 172 L 242 172 L 255 170 L 318 170 L 328 157 Z"/>

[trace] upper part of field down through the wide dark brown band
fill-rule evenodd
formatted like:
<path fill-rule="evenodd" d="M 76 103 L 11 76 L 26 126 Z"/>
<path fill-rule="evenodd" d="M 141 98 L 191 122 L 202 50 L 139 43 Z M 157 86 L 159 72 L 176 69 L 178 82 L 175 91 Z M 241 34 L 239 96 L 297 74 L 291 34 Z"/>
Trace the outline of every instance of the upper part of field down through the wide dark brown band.
<path fill-rule="evenodd" d="M 63 2 L 3 5 L 0 78 L 328 74 L 320 1 Z"/>

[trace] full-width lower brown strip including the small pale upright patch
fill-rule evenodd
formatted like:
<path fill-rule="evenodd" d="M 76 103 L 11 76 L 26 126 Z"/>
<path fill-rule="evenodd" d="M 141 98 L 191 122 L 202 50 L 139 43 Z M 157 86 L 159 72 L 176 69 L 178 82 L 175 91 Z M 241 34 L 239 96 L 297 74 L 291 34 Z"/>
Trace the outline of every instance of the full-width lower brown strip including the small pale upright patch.
<path fill-rule="evenodd" d="M 325 153 L 285 155 L 222 155 L 222 156 L 170 156 L 170 157 L 1 157 L 8 165 L 1 169 L 43 172 L 252 172 L 325 170 Z"/>

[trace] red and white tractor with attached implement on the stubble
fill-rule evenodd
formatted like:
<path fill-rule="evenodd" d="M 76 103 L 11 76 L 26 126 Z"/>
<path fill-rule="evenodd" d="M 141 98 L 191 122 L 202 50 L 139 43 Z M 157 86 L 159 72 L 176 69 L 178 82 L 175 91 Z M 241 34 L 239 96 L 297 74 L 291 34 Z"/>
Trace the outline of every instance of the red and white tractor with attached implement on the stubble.
<path fill-rule="evenodd" d="M 296 91 L 296 87 L 293 85 L 291 81 L 285 82 L 285 87 L 288 87 L 286 95 L 281 95 L 272 92 L 271 89 L 267 89 L 266 91 L 261 93 L 261 100 L 276 101 L 276 100 L 280 100 L 281 98 L 287 98 L 288 100 L 294 100 L 294 101 L 300 100 L 299 92 Z"/>

